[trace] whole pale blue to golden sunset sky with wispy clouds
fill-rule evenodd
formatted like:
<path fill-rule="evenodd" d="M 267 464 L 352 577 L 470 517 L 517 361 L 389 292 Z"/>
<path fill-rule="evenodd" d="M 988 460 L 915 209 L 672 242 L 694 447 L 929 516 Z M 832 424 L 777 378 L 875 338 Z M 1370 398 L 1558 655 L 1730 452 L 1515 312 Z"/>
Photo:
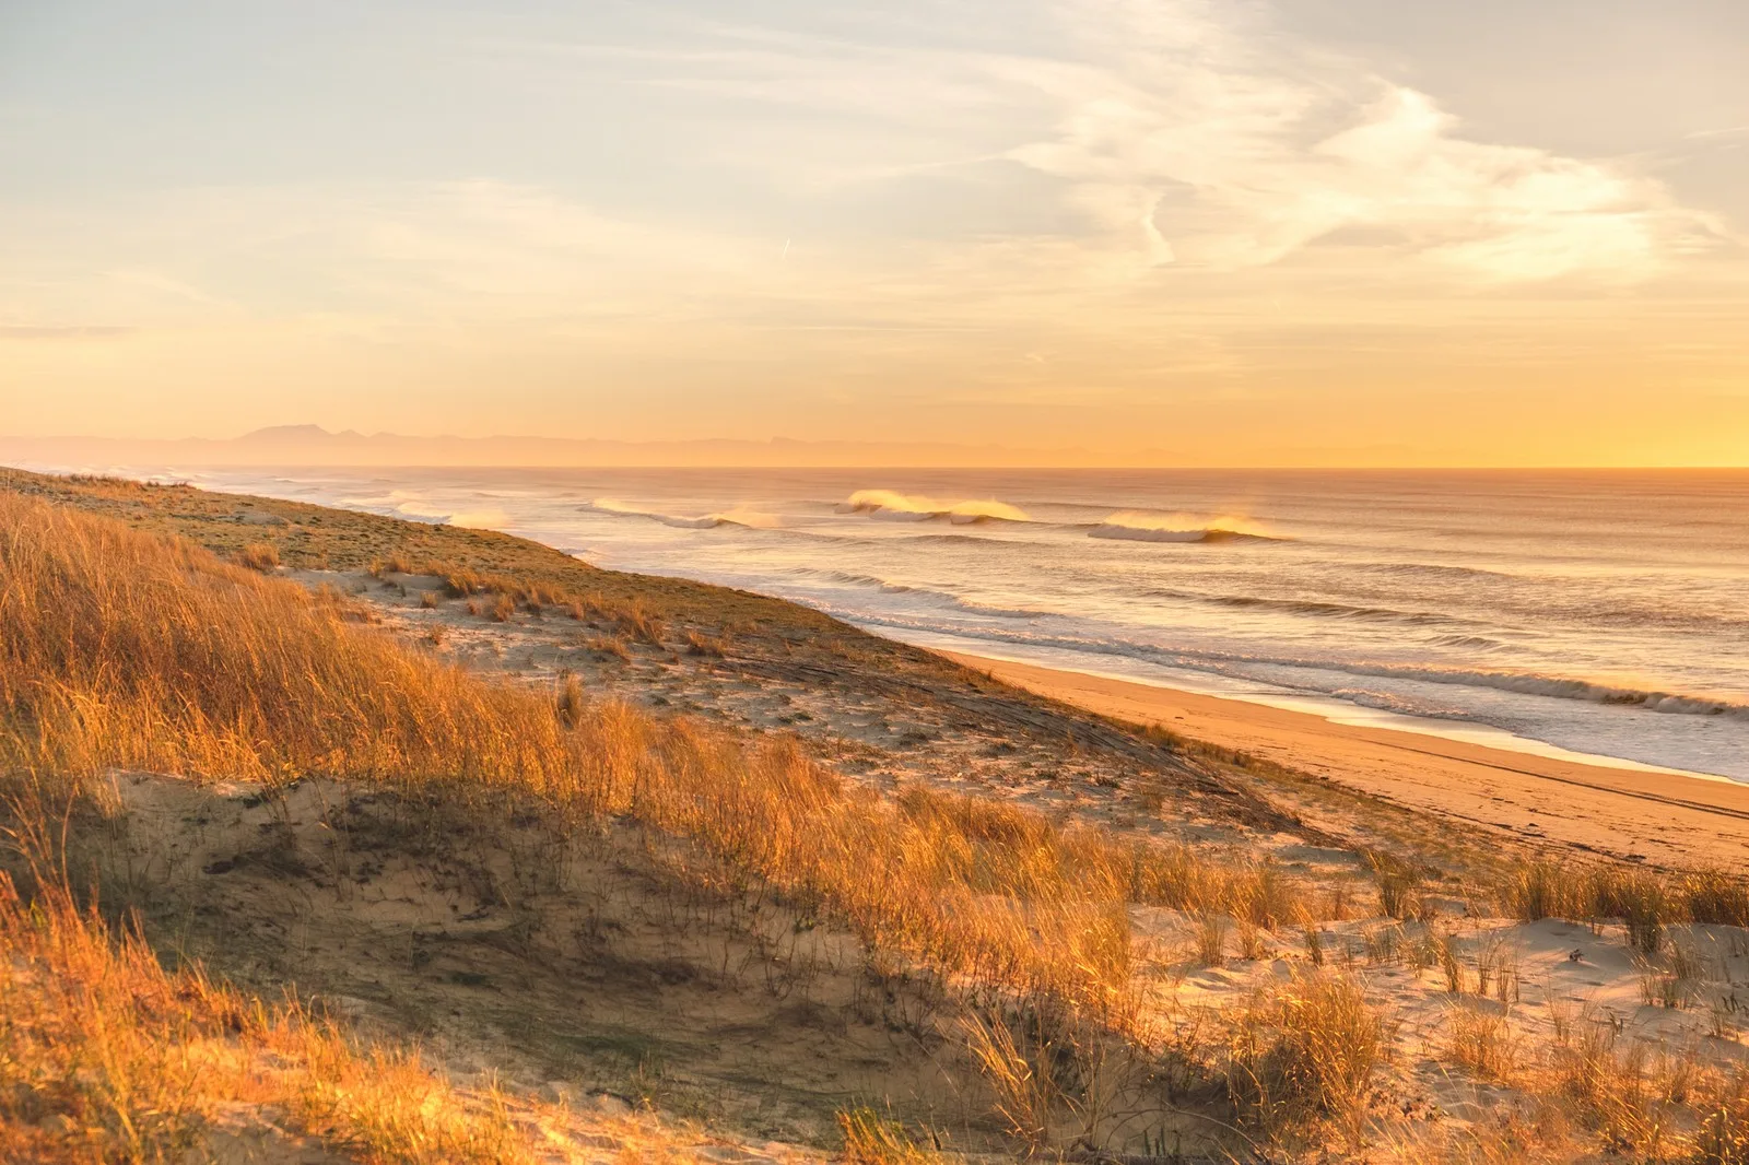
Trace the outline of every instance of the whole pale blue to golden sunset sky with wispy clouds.
<path fill-rule="evenodd" d="M 1749 464 L 1742 0 L 0 0 L 0 436 Z"/>

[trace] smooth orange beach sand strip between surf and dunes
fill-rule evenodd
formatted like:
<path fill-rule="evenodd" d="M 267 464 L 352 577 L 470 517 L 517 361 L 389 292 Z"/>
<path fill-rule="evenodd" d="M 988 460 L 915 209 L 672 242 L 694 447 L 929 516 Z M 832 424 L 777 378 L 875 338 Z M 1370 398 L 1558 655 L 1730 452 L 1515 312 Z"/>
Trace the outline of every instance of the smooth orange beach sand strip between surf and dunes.
<path fill-rule="evenodd" d="M 1555 848 L 1658 866 L 1749 861 L 1749 785 L 1606 768 L 1118 679 L 948 652 L 1051 700 Z"/>

